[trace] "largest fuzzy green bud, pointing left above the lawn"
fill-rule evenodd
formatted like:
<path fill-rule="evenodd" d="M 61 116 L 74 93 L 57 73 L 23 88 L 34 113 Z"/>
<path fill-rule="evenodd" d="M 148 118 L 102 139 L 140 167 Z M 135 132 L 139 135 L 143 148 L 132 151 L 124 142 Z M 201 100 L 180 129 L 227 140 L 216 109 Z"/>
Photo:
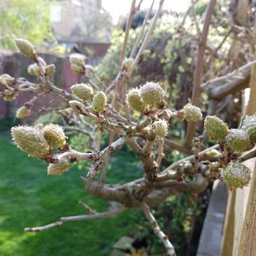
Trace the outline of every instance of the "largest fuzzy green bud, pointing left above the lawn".
<path fill-rule="evenodd" d="M 50 146 L 42 135 L 42 131 L 30 126 L 17 126 L 11 128 L 13 141 L 22 151 L 34 158 L 46 158 Z"/>

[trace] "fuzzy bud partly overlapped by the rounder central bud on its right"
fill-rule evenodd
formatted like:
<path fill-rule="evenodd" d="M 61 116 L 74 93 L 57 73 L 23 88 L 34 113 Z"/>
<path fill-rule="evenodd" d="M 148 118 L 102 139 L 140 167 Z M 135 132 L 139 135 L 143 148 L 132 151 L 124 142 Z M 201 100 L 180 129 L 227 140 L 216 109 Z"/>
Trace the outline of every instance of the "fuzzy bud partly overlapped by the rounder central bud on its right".
<path fill-rule="evenodd" d="M 133 88 L 129 90 L 129 92 L 127 92 L 126 103 L 129 106 L 129 108 L 139 112 L 144 112 L 148 108 L 148 105 L 142 102 L 138 88 Z"/>

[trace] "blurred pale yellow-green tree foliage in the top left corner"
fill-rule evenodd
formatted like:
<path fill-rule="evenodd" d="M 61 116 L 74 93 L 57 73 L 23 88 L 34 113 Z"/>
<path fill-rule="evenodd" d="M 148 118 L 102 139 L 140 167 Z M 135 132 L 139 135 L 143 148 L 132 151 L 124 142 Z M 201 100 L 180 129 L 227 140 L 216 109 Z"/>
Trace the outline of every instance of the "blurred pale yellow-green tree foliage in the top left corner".
<path fill-rule="evenodd" d="M 3 0 L 0 3 L 0 44 L 13 49 L 13 38 L 23 37 L 33 43 L 53 40 L 49 23 L 50 1 Z"/>

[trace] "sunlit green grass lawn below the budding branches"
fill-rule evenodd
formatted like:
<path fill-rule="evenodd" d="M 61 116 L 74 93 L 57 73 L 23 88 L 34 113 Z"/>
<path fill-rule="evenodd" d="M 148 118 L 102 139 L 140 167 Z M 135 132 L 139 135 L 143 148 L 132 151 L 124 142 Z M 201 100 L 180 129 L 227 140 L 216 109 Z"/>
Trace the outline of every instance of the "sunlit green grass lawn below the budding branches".
<path fill-rule="evenodd" d="M 141 176 L 131 154 L 117 152 L 110 162 L 108 182 L 121 183 Z M 13 146 L 9 136 L 0 137 L 0 255 L 1 256 L 104 256 L 113 244 L 129 235 L 139 211 L 127 211 L 115 218 L 63 224 L 44 232 L 26 233 L 25 227 L 42 226 L 60 216 L 85 214 L 79 200 L 97 211 L 106 201 L 86 195 L 80 175 L 73 166 L 61 177 L 48 177 L 45 162 L 28 158 Z"/>

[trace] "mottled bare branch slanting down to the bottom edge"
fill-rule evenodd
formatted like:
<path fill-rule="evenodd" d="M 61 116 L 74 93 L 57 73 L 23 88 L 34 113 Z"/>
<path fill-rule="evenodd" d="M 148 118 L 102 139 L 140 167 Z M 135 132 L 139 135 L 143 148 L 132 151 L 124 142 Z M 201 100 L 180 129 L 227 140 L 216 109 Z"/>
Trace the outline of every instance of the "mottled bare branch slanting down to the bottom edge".
<path fill-rule="evenodd" d="M 154 233 L 158 238 L 160 238 L 160 241 L 163 243 L 166 253 L 168 256 L 176 256 L 175 250 L 173 245 L 170 243 L 168 236 L 162 232 L 160 229 L 160 226 L 158 225 L 158 222 L 156 222 L 156 218 L 154 218 L 154 215 L 152 212 L 150 212 L 150 207 L 145 202 L 141 203 L 141 209 L 143 213 L 145 214 L 146 218 L 150 222 L 150 225 L 152 226 Z"/>

